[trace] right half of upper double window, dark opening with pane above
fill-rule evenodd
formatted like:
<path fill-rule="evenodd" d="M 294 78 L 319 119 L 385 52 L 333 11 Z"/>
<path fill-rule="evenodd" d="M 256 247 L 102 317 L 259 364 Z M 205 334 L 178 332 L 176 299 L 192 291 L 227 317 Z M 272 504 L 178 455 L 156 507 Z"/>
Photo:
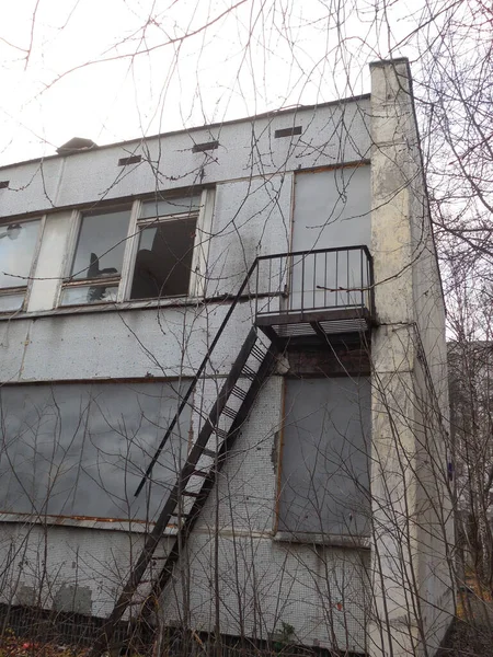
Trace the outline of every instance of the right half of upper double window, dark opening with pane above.
<path fill-rule="evenodd" d="M 130 299 L 188 295 L 199 196 L 142 204 Z"/>

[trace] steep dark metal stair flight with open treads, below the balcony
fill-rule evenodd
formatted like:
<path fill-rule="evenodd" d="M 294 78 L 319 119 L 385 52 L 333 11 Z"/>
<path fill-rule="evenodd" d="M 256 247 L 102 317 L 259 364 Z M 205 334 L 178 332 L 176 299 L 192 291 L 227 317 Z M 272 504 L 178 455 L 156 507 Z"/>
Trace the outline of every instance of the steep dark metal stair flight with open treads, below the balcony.
<path fill-rule="evenodd" d="M 108 649 L 115 629 L 128 609 L 137 608 L 137 613 L 133 615 L 144 618 L 148 618 L 154 610 L 181 550 L 215 485 L 228 451 L 246 420 L 259 391 L 275 367 L 276 354 L 275 345 L 266 345 L 265 336 L 259 333 L 256 327 L 252 327 L 152 530 L 146 537 L 144 549 L 113 611 L 103 624 L 92 648 L 93 657 Z M 175 423 L 172 424 L 174 426 Z M 170 429 L 167 436 L 169 433 Z M 161 443 L 136 494 L 142 489 L 163 447 Z M 173 545 L 165 555 L 158 556 L 156 552 L 168 526 L 176 530 L 172 537 Z M 157 568 L 159 562 L 162 565 Z"/>

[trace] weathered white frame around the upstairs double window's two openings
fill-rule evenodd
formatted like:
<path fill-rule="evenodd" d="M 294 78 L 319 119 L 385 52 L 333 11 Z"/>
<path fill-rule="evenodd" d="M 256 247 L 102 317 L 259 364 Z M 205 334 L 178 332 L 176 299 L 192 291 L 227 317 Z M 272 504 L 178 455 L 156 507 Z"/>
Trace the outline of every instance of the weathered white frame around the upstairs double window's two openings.
<path fill-rule="evenodd" d="M 181 192 L 181 193 L 180 193 Z M 128 221 L 128 230 L 126 233 L 126 244 L 122 261 L 122 269 L 119 275 L 115 275 L 114 277 L 101 278 L 101 279 L 72 279 L 71 278 L 71 268 L 77 256 L 77 246 L 79 242 L 80 231 L 82 227 L 82 220 L 84 214 L 88 211 L 92 211 L 94 208 L 81 208 L 73 210 L 71 217 L 71 229 L 67 243 L 66 258 L 64 263 L 62 270 L 62 279 L 59 286 L 59 291 L 57 295 L 56 308 L 93 308 L 101 307 L 107 304 L 141 304 L 149 303 L 153 301 L 159 301 L 160 303 L 173 303 L 176 301 L 194 301 L 198 298 L 203 297 L 206 291 L 206 268 L 207 268 L 207 258 L 208 258 L 208 250 L 210 242 L 210 230 L 213 222 L 213 214 L 214 214 L 214 203 L 215 203 L 215 189 L 214 188 L 204 188 L 197 191 L 197 195 L 199 196 L 199 207 L 196 212 L 196 230 L 195 238 L 193 241 L 193 252 L 192 252 L 192 265 L 191 265 L 191 276 L 188 281 L 188 292 L 187 295 L 180 295 L 173 297 L 152 297 L 145 299 L 130 299 L 131 286 L 134 281 L 134 273 L 135 273 L 135 263 L 138 253 L 138 244 L 140 239 L 140 228 L 152 224 L 164 223 L 167 221 L 179 221 L 181 218 L 187 218 L 192 215 L 192 212 L 176 212 L 175 215 L 167 215 L 163 217 L 151 217 L 151 218 L 140 218 L 140 214 L 142 210 L 142 206 L 145 203 L 149 200 L 165 200 L 167 198 L 183 198 L 184 191 L 177 189 L 173 191 L 172 194 L 158 194 L 147 197 L 137 198 L 134 201 L 128 204 L 130 216 Z M 101 207 L 101 214 L 105 211 L 111 212 L 112 210 L 116 210 L 118 208 L 126 208 L 126 204 L 118 204 L 117 201 L 107 204 Z M 194 212 L 195 215 L 195 212 Z M 110 301 L 102 299 L 101 301 L 94 301 L 92 303 L 62 303 L 62 295 L 64 290 L 70 288 L 79 288 L 79 287 L 88 287 L 89 281 L 93 281 L 94 286 L 98 285 L 98 281 L 107 283 L 107 285 L 116 285 L 117 284 L 117 292 L 116 292 L 116 301 Z"/>

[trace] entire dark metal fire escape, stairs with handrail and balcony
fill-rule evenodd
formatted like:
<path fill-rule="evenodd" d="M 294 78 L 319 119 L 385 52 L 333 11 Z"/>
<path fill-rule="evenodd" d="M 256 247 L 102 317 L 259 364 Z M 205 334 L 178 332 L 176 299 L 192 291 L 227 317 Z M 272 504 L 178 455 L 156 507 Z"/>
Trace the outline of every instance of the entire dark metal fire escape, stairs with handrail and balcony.
<path fill-rule="evenodd" d="M 319 285 L 319 280 L 328 281 L 328 268 L 334 264 L 328 262 L 328 257 L 331 261 L 332 256 L 336 258 L 337 269 L 342 252 L 347 254 L 345 288 L 339 285 L 339 274 L 335 279 L 335 288 Z M 352 270 L 355 268 L 355 253 L 360 263 L 359 288 L 357 289 L 349 287 L 349 253 Z M 317 265 L 318 258 L 319 265 Z M 322 270 L 318 270 L 320 263 L 322 263 Z M 300 265 L 299 272 L 296 270 L 298 265 Z M 127 610 L 135 610 L 135 613 L 130 611 L 133 618 L 148 618 L 154 611 L 156 603 L 173 573 L 183 546 L 214 488 L 228 452 L 232 449 L 236 438 L 248 419 L 262 385 L 274 370 L 279 350 L 285 349 L 291 343 L 300 344 L 300 339 L 308 339 L 307 344 L 313 339 L 319 344 L 320 342 L 328 343 L 331 335 L 354 334 L 367 331 L 370 326 L 371 258 L 366 246 L 257 257 L 232 300 L 203 362 L 184 394 L 179 410 L 135 493 L 136 496 L 140 494 L 149 480 L 163 448 L 179 423 L 181 413 L 190 403 L 192 393 L 199 380 L 207 373 L 213 351 L 236 307 L 242 299 L 249 299 L 245 297 L 245 290 L 251 293 L 248 286 L 254 274 L 256 274 L 255 325 L 251 327 L 185 463 L 177 473 L 176 482 L 152 530 L 145 539 L 142 551 L 133 565 L 128 580 L 92 648 L 93 657 L 108 649 L 115 630 Z M 313 287 L 313 290 L 309 292 L 311 295 L 309 302 L 305 299 L 307 276 L 310 277 Z M 301 285 L 301 297 L 286 292 L 288 284 L 293 284 L 296 278 Z M 270 283 L 270 289 L 262 290 L 263 280 Z M 275 281 L 274 286 L 272 281 Z M 349 303 L 348 292 L 354 292 L 355 289 L 358 299 L 356 302 Z M 343 299 L 341 299 L 341 290 L 345 295 Z M 351 300 L 353 297 L 352 295 Z M 274 304 L 273 299 L 277 299 Z M 173 528 L 175 533 L 165 533 L 168 527 Z M 173 544 L 171 550 L 161 556 L 157 552 L 164 535 L 172 539 Z"/>

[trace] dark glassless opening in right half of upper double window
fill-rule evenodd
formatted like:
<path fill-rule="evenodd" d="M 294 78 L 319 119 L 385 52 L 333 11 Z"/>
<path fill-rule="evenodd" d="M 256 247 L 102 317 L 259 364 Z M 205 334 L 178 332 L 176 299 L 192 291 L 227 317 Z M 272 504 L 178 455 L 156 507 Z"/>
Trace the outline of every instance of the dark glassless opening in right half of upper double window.
<path fill-rule="evenodd" d="M 188 295 L 197 218 L 142 227 L 130 299 Z"/>

